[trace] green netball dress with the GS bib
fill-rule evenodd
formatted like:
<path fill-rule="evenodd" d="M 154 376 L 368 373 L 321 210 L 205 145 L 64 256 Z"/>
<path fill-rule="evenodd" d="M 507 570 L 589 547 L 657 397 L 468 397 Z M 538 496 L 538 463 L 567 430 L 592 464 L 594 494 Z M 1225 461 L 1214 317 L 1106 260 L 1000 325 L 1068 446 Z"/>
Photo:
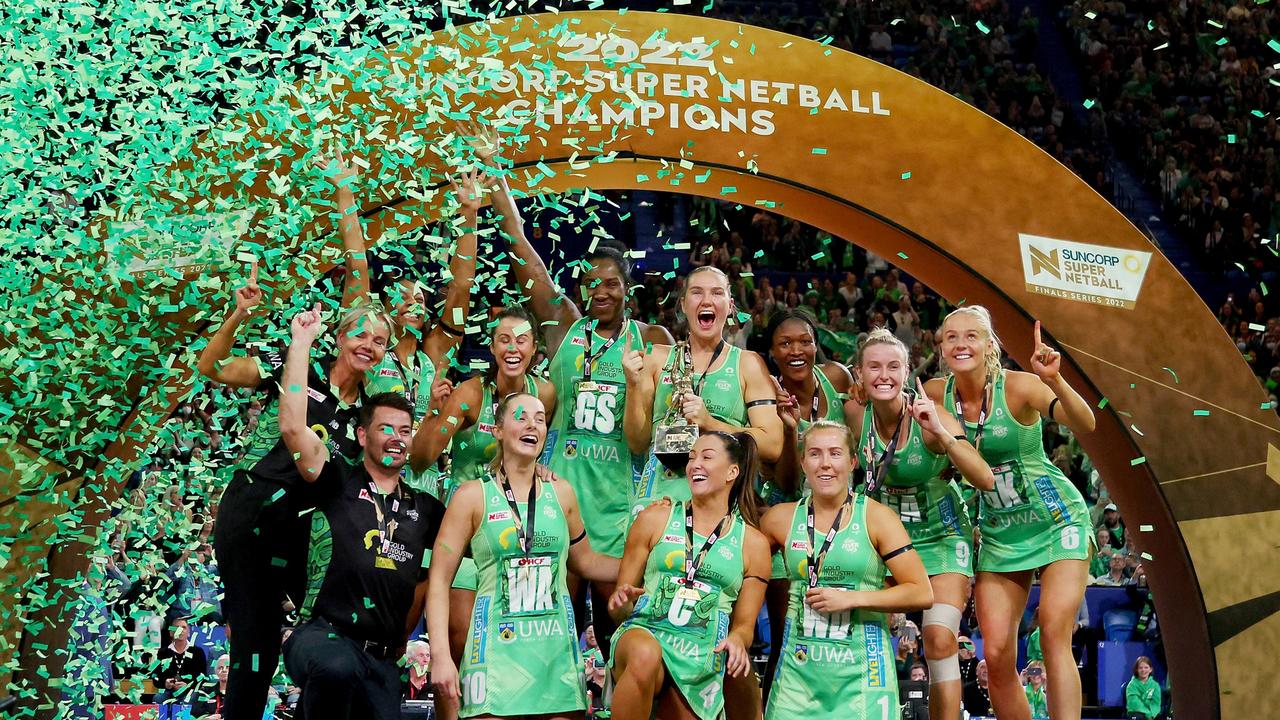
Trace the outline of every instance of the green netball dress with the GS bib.
<path fill-rule="evenodd" d="M 580 318 L 570 325 L 552 357 L 550 379 L 559 398 L 543 462 L 573 486 L 591 548 L 622 557 L 631 524 L 627 495 L 634 466 L 622 434 L 627 405 L 622 352 L 628 341 L 631 347 L 644 347 L 644 338 L 634 320 L 627 320 L 613 338 L 591 332 L 594 323 Z M 588 350 L 590 368 L 585 366 Z"/>

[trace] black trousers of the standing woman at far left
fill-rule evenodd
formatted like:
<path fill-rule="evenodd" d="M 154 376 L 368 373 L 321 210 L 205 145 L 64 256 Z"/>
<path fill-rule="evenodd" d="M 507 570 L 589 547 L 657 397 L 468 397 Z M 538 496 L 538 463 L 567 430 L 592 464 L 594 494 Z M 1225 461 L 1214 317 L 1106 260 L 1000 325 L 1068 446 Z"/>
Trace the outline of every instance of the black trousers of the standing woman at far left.
<path fill-rule="evenodd" d="M 261 720 L 280 662 L 288 597 L 302 605 L 311 515 L 301 491 L 237 471 L 223 493 L 214 550 L 223 578 L 230 667 L 223 717 Z"/>

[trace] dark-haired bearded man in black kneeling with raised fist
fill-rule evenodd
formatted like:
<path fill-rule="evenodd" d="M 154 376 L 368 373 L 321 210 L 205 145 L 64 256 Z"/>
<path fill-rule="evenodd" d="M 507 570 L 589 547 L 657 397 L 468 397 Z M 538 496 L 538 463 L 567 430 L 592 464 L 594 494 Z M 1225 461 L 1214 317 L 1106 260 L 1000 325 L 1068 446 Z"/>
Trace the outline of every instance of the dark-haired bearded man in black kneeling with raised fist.
<path fill-rule="evenodd" d="M 329 457 L 307 424 L 306 366 L 320 331 L 317 311 L 293 319 L 293 343 L 280 393 L 280 434 L 308 500 L 325 514 L 333 557 L 312 606 L 312 619 L 289 637 L 284 665 L 302 688 L 306 717 L 399 716 L 406 616 L 444 506 L 401 483 L 413 433 L 413 413 L 401 393 L 369 398 L 357 441 L 364 459 Z"/>

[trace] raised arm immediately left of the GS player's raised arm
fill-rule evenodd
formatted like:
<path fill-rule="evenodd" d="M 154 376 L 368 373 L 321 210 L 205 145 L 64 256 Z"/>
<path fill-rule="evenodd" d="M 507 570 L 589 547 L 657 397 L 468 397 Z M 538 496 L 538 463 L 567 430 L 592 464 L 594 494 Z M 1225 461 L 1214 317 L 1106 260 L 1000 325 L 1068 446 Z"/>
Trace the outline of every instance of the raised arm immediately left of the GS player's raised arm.
<path fill-rule="evenodd" d="M 462 227 L 458 242 L 449 259 L 449 284 L 444 290 L 444 309 L 422 341 L 422 350 L 435 365 L 438 375 L 443 375 L 449 364 L 449 356 L 462 345 L 467 323 L 467 310 L 471 305 L 471 286 L 476 279 L 476 232 L 479 224 L 480 201 L 485 176 L 481 170 L 470 170 L 458 181 L 449 181 L 458 199 L 458 215 Z"/>

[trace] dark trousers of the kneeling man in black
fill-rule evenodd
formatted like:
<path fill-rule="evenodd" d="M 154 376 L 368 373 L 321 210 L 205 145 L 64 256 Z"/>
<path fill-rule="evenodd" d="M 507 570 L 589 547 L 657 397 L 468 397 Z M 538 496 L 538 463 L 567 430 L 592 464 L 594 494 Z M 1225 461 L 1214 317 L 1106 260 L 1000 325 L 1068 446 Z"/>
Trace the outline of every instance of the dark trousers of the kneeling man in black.
<path fill-rule="evenodd" d="M 289 635 L 284 667 L 302 688 L 298 707 L 308 720 L 399 720 L 396 659 L 374 657 L 321 618 Z"/>

